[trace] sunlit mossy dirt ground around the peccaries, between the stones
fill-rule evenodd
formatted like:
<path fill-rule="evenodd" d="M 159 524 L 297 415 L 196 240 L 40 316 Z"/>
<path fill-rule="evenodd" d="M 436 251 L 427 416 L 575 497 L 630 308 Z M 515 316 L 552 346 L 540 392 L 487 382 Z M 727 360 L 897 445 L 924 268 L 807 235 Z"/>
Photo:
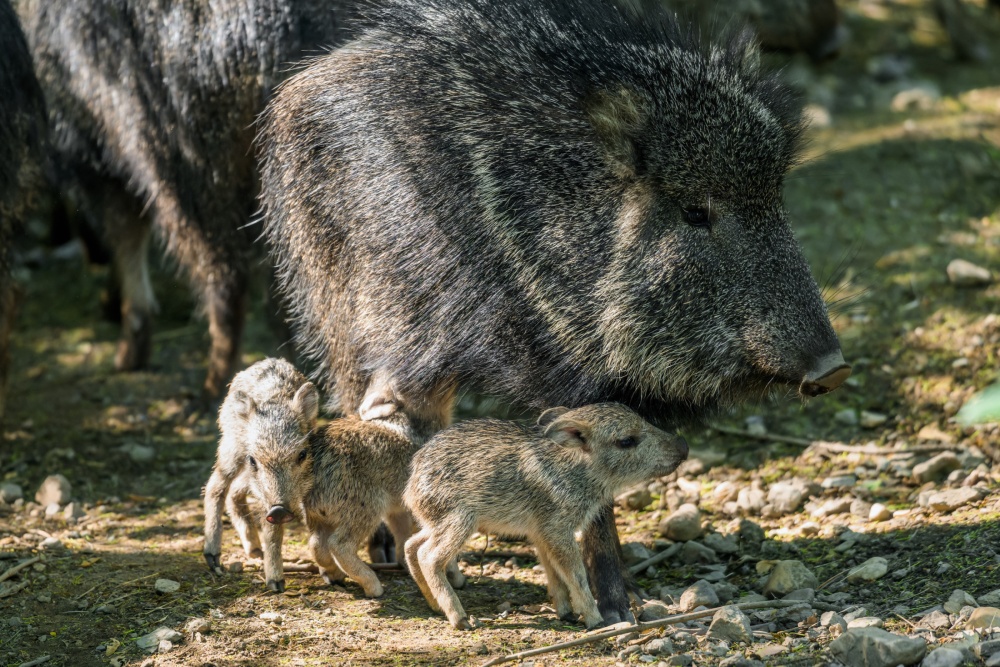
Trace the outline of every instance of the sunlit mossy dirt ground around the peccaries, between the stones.
<path fill-rule="evenodd" d="M 821 592 L 846 592 L 888 629 L 902 631 L 913 625 L 911 614 L 941 604 L 953 589 L 981 595 L 1000 588 L 1000 431 L 996 424 L 963 428 L 951 419 L 997 377 L 1000 282 L 960 288 L 945 271 L 962 258 L 1000 276 L 1000 33 L 984 28 L 996 45 L 986 62 L 956 62 L 925 4 L 847 3 L 852 38 L 840 58 L 819 66 L 768 58 L 787 67 L 818 121 L 808 159 L 788 179 L 787 204 L 855 370 L 850 383 L 828 397 L 750 406 L 719 420 L 744 429 L 747 417 L 759 416 L 770 433 L 873 443 L 880 453 L 804 451 L 691 429 L 685 435 L 693 462 L 653 485 L 646 509 L 618 510 L 623 542 L 662 548 L 657 525 L 678 494 L 693 494 L 705 521 L 729 533 L 738 517 L 713 495 L 723 482 L 766 489 L 793 476 L 819 482 L 857 473 L 856 498 L 912 514 L 873 523 L 850 513 L 817 519 L 805 510 L 774 518 L 751 512 L 768 539 L 725 556 L 726 577 L 743 593 L 759 590 L 757 561 L 800 559 L 822 582 Z M 876 81 L 873 58 L 885 54 L 906 59 L 910 71 L 900 80 Z M 924 92 L 905 107 L 897 94 L 914 89 Z M 479 537 L 469 544 L 462 563 L 469 584 L 459 594 L 483 622 L 470 632 L 430 613 L 413 582 L 398 572 L 380 575 L 386 594 L 378 600 L 363 598 L 353 582 L 330 588 L 308 573 L 289 574 L 284 594 L 266 593 L 259 563 L 243 556 L 228 524 L 224 559 L 244 569 L 210 573 L 201 555 L 200 492 L 217 434 L 212 413 L 192 410 L 207 334 L 192 315 L 188 291 L 169 267 L 158 270 L 155 367 L 116 374 L 117 325 L 99 318 L 107 268 L 86 266 L 66 247 L 53 252 L 31 239 L 23 250 L 25 299 L 13 339 L 0 476 L 20 485 L 24 500 L 0 502 L 0 572 L 29 557 L 41 560 L 0 588 L 3 594 L 26 582 L 0 597 L 0 663 L 47 655 L 44 664 L 53 667 L 146 660 L 220 667 L 464 665 L 581 636 L 582 627 L 544 608 L 544 580 L 533 569 L 530 547 L 520 542 L 490 539 L 486 547 Z M 250 316 L 247 364 L 278 351 L 265 320 L 261 299 Z M 505 410 L 470 396 L 460 416 Z M 865 428 L 850 423 L 845 410 L 887 419 Z M 879 460 L 892 458 L 885 450 L 931 442 L 979 466 L 990 495 L 953 513 L 924 511 L 918 495 L 926 486 L 879 470 Z M 81 518 L 67 521 L 62 512 L 46 518 L 32 502 L 42 480 L 55 473 L 71 483 Z M 817 530 L 807 535 L 803 525 L 810 521 Z M 845 529 L 863 539 L 840 548 Z M 61 548 L 42 548 L 47 538 Z M 286 560 L 305 556 L 304 541 L 294 526 Z M 845 588 L 839 575 L 869 556 L 890 558 L 904 575 Z M 703 574 L 697 565 L 660 566 L 640 574 L 639 584 L 655 597 Z M 156 592 L 160 578 L 179 582 L 180 589 Z M 185 632 L 191 619 L 207 619 L 211 627 Z M 161 626 L 185 636 L 150 657 L 135 640 Z M 809 628 L 803 621 L 762 631 L 769 645 L 785 647 L 766 661 L 822 664 L 825 644 Z M 808 641 L 796 641 L 803 638 Z M 612 665 L 622 648 L 604 641 L 535 664 Z M 719 659 L 705 646 L 692 650 L 696 664 Z M 748 655 L 761 650 L 745 647 Z"/>

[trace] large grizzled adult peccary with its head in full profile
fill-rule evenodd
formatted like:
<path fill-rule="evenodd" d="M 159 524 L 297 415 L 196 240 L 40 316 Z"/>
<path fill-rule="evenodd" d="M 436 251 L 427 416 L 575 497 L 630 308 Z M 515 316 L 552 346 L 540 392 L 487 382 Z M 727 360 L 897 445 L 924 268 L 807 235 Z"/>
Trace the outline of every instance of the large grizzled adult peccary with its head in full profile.
<path fill-rule="evenodd" d="M 782 206 L 802 119 L 752 40 L 603 0 L 389 0 L 263 116 L 266 234 L 333 403 L 458 385 L 659 423 L 849 375 Z M 611 505 L 585 536 L 629 616 Z"/>

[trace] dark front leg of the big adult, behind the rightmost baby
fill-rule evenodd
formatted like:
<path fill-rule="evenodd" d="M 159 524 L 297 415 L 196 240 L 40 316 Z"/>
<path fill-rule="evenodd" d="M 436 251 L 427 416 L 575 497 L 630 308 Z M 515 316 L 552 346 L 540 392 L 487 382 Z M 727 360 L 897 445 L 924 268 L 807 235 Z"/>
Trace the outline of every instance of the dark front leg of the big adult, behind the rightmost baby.
<path fill-rule="evenodd" d="M 608 625 L 634 622 L 626 588 L 627 570 L 622 556 L 615 512 L 612 505 L 602 509 L 583 533 L 583 557 L 587 575 L 597 597 L 597 607 Z"/>

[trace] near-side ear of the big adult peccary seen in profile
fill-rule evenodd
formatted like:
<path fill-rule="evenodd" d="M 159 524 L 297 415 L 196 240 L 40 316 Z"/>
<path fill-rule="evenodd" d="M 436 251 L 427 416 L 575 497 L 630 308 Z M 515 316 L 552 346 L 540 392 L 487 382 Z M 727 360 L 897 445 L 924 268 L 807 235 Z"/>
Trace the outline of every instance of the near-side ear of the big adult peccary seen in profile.
<path fill-rule="evenodd" d="M 587 95 L 583 108 L 615 173 L 634 177 L 639 170 L 635 142 L 646 122 L 646 101 L 636 91 L 619 86 Z"/>

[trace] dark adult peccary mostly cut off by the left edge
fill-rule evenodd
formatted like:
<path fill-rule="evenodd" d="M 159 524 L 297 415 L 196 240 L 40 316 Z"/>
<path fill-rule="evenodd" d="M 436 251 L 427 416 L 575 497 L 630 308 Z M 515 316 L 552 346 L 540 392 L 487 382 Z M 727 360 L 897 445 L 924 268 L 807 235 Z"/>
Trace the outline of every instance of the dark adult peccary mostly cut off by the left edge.
<path fill-rule="evenodd" d="M 44 140 L 45 106 L 28 45 L 10 2 L 0 0 L 0 420 L 17 294 L 10 251 L 41 185 Z"/>

